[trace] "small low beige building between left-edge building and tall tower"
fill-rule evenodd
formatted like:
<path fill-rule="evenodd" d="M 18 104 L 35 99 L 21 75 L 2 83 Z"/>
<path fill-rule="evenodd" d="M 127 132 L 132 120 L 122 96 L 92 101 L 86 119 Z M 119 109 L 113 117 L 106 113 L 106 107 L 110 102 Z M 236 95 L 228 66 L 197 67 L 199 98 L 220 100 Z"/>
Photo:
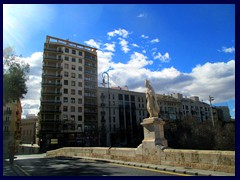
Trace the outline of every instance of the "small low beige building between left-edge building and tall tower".
<path fill-rule="evenodd" d="M 35 115 L 27 115 L 26 119 L 22 119 L 22 144 L 36 144 L 36 125 L 38 117 Z"/>

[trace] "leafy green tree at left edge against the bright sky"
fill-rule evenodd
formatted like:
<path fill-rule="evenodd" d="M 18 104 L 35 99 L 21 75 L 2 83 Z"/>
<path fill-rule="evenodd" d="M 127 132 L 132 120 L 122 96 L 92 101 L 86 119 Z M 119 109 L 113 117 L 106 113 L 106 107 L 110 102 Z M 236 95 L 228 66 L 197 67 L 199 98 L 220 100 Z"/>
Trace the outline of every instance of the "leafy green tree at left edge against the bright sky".
<path fill-rule="evenodd" d="M 27 93 L 29 64 L 16 56 L 12 47 L 3 49 L 3 105 L 23 98 Z"/>

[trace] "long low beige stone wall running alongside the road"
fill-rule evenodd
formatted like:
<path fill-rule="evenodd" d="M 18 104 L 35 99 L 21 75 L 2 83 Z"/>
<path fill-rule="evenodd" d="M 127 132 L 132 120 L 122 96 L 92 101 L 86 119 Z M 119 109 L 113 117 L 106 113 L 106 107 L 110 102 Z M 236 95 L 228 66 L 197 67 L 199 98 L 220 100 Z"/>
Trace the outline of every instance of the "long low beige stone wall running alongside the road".
<path fill-rule="evenodd" d="M 235 173 L 235 151 L 138 148 L 66 147 L 47 152 L 48 157 L 83 156 L 148 164 Z"/>

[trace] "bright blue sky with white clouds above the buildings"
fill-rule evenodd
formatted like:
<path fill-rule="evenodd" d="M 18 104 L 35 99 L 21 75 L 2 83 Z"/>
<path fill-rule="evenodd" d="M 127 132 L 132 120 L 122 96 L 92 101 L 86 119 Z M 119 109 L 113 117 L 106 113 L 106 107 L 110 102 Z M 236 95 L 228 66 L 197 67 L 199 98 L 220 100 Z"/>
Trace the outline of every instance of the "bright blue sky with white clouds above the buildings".
<path fill-rule="evenodd" d="M 4 5 L 3 46 L 31 65 L 24 114 L 39 108 L 46 35 L 97 47 L 99 85 L 108 71 L 111 86 L 144 92 L 147 78 L 158 93 L 211 95 L 235 116 L 234 5 Z"/>

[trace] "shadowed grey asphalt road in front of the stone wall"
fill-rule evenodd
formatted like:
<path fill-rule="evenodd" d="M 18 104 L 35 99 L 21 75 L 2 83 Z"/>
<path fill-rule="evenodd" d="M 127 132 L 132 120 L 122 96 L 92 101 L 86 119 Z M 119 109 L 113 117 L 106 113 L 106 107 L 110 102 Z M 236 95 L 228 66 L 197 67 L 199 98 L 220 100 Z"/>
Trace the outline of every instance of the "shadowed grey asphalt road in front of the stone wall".
<path fill-rule="evenodd" d="M 29 176 L 178 176 L 181 174 L 77 158 L 18 156 L 15 163 Z"/>

